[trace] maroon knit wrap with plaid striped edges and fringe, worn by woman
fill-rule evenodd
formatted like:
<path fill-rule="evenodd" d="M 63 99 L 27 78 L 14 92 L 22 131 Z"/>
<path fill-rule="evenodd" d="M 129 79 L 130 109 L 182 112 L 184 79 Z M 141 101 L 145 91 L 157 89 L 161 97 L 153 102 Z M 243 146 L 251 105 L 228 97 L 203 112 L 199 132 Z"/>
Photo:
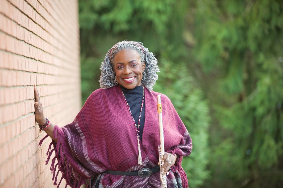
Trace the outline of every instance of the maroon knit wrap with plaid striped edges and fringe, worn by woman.
<path fill-rule="evenodd" d="M 142 168 L 151 169 L 157 165 L 160 145 L 158 94 L 160 93 L 150 92 L 145 88 L 142 165 L 138 165 L 136 129 L 119 86 L 95 90 L 72 123 L 62 128 L 55 126 L 54 138 L 58 140 L 57 143 L 50 143 L 46 160 L 47 164 L 52 152 L 55 151 L 51 165 L 54 185 L 57 185 L 57 175 L 61 171 L 62 178 L 71 187 L 80 187 L 92 177 L 87 185 L 90 188 L 94 188 L 95 185 L 121 188 L 160 187 L 159 172 L 146 178 L 103 173 L 106 170 L 138 171 Z M 167 186 L 188 187 L 181 162 L 183 156 L 191 153 L 192 141 L 170 99 L 163 94 L 160 95 L 165 151 L 179 156 L 169 171 Z M 46 137 L 40 141 L 40 145 Z M 56 165 L 55 159 L 58 162 Z"/>

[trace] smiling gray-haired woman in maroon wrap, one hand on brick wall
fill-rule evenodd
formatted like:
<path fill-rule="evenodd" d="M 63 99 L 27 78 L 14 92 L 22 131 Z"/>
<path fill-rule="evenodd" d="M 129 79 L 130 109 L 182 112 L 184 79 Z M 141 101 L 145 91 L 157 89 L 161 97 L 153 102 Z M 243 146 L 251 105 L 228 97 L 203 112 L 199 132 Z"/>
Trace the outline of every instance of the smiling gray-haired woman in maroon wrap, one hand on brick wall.
<path fill-rule="evenodd" d="M 140 42 L 122 41 L 108 51 L 100 69 L 101 89 L 95 90 L 75 120 L 62 128 L 44 117 L 35 87 L 35 119 L 46 137 L 52 138 L 49 151 L 53 144 L 58 161 L 55 165 L 54 158 L 51 165 L 54 184 L 58 165 L 71 187 L 80 187 L 87 180 L 91 188 L 160 187 L 156 167 L 159 93 L 152 91 L 159 71 L 155 56 Z M 167 187 L 188 187 L 181 162 L 191 152 L 191 138 L 170 99 L 161 94 L 161 100 L 166 151 L 162 170 L 168 172 Z"/>

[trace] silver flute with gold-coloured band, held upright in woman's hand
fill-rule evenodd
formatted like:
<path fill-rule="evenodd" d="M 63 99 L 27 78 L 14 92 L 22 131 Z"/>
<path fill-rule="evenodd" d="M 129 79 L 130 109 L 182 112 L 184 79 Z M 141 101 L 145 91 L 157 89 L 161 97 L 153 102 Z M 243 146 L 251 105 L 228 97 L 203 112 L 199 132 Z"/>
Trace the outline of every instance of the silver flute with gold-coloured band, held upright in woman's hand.
<path fill-rule="evenodd" d="M 162 123 L 162 105 L 161 105 L 161 97 L 160 95 L 157 95 L 157 111 L 158 111 L 158 117 L 159 117 L 159 133 L 160 133 L 160 145 L 158 146 L 158 152 L 159 152 L 159 167 L 160 167 L 160 182 L 162 188 L 167 188 L 167 174 L 162 173 L 162 165 L 161 162 L 163 155 L 164 155 L 164 134 L 163 134 L 163 123 Z"/>

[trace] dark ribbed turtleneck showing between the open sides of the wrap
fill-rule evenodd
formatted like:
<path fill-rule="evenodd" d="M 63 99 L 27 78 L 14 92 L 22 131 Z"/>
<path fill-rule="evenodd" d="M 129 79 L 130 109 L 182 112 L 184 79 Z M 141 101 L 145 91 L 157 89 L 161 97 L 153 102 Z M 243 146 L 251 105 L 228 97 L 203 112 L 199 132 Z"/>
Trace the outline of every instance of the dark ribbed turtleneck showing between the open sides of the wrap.
<path fill-rule="evenodd" d="M 140 112 L 141 112 L 141 120 L 140 120 L 140 140 L 142 141 L 142 132 L 144 127 L 144 119 L 145 119 L 145 100 L 143 101 L 143 108 L 141 111 L 141 101 L 143 97 L 143 86 L 137 86 L 134 89 L 127 89 L 123 86 L 121 86 L 121 89 L 123 90 L 123 93 L 129 103 L 131 112 L 133 114 L 134 120 L 136 122 L 136 125 L 138 126 Z M 134 128 L 134 122 L 133 122 L 133 128 Z"/>

